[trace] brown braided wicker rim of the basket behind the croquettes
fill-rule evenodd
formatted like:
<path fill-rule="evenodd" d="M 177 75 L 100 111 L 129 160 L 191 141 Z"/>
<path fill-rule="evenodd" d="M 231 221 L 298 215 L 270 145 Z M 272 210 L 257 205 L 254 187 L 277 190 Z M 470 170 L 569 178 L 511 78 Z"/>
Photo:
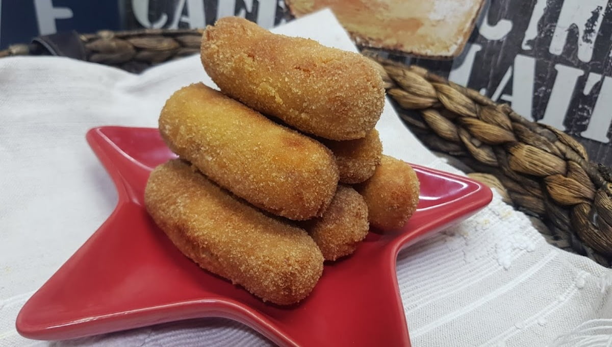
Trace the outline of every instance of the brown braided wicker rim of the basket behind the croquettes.
<path fill-rule="evenodd" d="M 88 61 L 141 72 L 197 54 L 202 32 L 100 31 L 80 38 Z M 398 113 L 428 148 L 498 189 L 551 244 L 611 266 L 612 171 L 589 162 L 578 141 L 421 67 L 363 53 L 378 62 Z M 33 45 L 13 45 L 0 58 L 28 54 L 36 54 Z"/>

